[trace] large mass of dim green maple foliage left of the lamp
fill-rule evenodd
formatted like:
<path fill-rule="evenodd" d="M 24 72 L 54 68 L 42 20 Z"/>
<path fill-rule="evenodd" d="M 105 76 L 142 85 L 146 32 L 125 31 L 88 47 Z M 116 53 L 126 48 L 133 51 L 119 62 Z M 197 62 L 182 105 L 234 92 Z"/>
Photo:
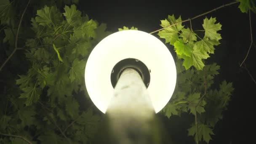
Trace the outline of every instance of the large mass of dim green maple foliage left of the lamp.
<path fill-rule="evenodd" d="M 11 8 L 13 2 L 1 3 L 4 3 L 1 12 L 5 13 L 1 15 L 1 24 L 7 24 L 11 19 L 6 16 L 9 11 L 6 9 Z M 12 81 L 15 86 L 5 86 L 1 93 L 4 101 L 1 102 L 0 132 L 24 136 L 41 144 L 90 143 L 100 116 L 93 114 L 89 105 L 82 108 L 84 104 L 79 100 L 85 101 L 88 96 L 79 93 L 86 93 L 86 59 L 93 45 L 109 35 L 105 32 L 106 25 L 81 16 L 75 5 L 66 5 L 64 13 L 56 6 L 45 5 L 31 18 L 31 25 L 32 35 L 24 38 L 23 46 L 28 70 L 18 73 L 16 85 Z M 12 47 L 16 32 L 13 34 L 11 30 L 15 29 L 3 29 L 3 43 Z M 21 141 L 12 137 L 0 139 L 0 143 L 5 144 Z"/>

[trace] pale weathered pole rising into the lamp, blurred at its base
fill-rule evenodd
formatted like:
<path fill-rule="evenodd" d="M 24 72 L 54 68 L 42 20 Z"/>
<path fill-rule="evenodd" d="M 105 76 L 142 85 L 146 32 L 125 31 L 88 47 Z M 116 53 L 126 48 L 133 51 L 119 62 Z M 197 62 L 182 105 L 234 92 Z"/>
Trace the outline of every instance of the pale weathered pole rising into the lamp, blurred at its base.
<path fill-rule="evenodd" d="M 109 128 L 116 144 L 151 144 L 155 111 L 139 73 L 125 69 L 107 108 Z"/>

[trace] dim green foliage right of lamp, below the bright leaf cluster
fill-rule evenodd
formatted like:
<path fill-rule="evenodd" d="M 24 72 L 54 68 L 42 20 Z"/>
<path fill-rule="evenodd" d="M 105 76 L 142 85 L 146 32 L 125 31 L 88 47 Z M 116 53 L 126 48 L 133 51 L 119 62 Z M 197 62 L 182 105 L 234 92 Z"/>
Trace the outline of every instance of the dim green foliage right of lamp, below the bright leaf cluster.
<path fill-rule="evenodd" d="M 211 135 L 213 135 L 215 124 L 222 118 L 222 111 L 227 108 L 230 101 L 230 96 L 234 90 L 232 83 L 223 81 L 219 85 L 219 90 L 211 88 L 214 77 L 219 74 L 220 67 L 216 63 L 206 65 L 203 70 L 185 70 L 182 61 L 177 59 L 176 67 L 176 88 L 162 113 L 170 118 L 172 115 L 180 116 L 182 112 L 189 112 L 192 115 L 197 112 L 198 132 L 194 122 L 192 127 L 188 129 L 188 134 L 195 136 L 195 139 L 198 134 L 199 140 L 203 136 L 203 140 L 208 143 L 211 140 Z M 205 88 L 206 95 L 202 99 Z M 196 106 L 197 109 L 195 109 Z"/>

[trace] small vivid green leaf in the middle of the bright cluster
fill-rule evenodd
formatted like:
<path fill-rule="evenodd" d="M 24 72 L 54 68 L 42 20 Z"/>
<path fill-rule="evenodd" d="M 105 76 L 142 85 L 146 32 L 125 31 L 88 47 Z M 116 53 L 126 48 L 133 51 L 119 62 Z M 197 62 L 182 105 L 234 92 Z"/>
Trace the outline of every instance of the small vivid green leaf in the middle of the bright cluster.
<path fill-rule="evenodd" d="M 174 50 L 177 55 L 184 54 L 185 56 L 191 57 L 191 51 L 193 50 L 193 48 L 188 44 L 184 44 L 183 41 L 179 39 L 174 43 Z"/>

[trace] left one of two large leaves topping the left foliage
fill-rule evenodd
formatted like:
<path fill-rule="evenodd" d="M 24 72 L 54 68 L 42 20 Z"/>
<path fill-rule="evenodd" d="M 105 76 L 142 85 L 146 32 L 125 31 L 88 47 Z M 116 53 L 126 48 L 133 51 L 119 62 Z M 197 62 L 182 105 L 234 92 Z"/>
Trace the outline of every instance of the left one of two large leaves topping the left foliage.
<path fill-rule="evenodd" d="M 62 21 L 62 15 L 56 6 L 45 6 L 41 10 L 37 10 L 35 21 L 42 26 L 55 27 Z"/>

